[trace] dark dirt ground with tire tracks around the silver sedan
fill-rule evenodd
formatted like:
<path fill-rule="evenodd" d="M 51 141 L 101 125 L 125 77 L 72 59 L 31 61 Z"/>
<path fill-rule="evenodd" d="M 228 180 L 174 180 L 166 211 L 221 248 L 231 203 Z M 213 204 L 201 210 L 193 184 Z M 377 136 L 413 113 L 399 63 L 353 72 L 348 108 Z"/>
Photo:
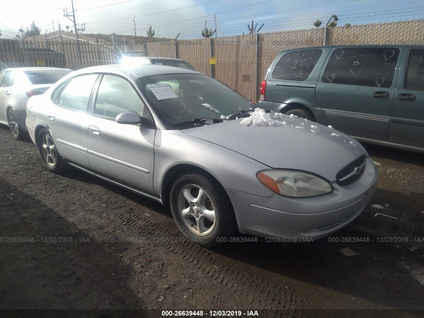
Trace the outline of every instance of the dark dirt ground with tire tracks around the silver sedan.
<path fill-rule="evenodd" d="M 208 250 L 186 241 L 160 204 L 76 169 L 47 172 L 29 138 L 1 127 L 0 309 L 422 315 L 410 309 L 424 309 L 424 155 L 365 147 L 378 188 L 345 229 L 312 243 Z M 389 316 L 365 316 L 379 312 Z"/>

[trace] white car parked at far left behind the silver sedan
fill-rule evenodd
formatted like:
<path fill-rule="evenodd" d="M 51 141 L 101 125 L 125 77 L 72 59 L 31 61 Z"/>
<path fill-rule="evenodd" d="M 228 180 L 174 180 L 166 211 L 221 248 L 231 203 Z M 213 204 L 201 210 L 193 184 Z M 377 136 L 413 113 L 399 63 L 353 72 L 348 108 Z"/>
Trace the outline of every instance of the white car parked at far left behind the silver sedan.
<path fill-rule="evenodd" d="M 70 72 L 72 70 L 56 67 L 8 68 L 0 72 L 0 123 L 10 127 L 15 139 L 21 139 L 27 131 L 28 99 L 44 93 Z"/>

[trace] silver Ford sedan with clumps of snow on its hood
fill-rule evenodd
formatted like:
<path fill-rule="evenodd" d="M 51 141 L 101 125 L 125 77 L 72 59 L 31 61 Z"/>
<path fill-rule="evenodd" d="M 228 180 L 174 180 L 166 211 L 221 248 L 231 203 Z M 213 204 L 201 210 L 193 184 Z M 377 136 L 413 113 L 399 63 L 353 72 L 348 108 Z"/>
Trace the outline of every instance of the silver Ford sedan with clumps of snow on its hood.
<path fill-rule="evenodd" d="M 377 180 L 351 137 L 168 66 L 72 72 L 30 98 L 26 125 L 48 170 L 72 166 L 170 206 L 203 246 L 237 231 L 327 236 L 361 214 Z"/>

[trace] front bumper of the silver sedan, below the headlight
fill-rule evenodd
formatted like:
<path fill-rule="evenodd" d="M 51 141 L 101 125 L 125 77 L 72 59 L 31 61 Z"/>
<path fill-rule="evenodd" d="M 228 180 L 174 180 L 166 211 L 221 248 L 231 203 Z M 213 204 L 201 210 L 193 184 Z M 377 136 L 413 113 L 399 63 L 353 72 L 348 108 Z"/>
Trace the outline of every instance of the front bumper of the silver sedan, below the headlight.
<path fill-rule="evenodd" d="M 239 231 L 260 237 L 319 239 L 357 218 L 374 194 L 377 168 L 366 159 L 362 176 L 349 186 L 333 183 L 330 194 L 289 198 L 273 194 L 260 197 L 228 190 Z"/>

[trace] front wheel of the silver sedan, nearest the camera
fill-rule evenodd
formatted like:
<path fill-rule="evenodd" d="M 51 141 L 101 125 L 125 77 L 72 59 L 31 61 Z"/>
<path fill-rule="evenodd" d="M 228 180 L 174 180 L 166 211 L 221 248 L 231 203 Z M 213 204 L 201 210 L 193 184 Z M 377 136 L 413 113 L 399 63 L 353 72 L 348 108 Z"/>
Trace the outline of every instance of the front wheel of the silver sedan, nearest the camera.
<path fill-rule="evenodd" d="M 192 242 L 212 247 L 235 233 L 228 196 L 207 176 L 189 173 L 178 177 L 171 189 L 170 205 L 178 228 Z"/>

